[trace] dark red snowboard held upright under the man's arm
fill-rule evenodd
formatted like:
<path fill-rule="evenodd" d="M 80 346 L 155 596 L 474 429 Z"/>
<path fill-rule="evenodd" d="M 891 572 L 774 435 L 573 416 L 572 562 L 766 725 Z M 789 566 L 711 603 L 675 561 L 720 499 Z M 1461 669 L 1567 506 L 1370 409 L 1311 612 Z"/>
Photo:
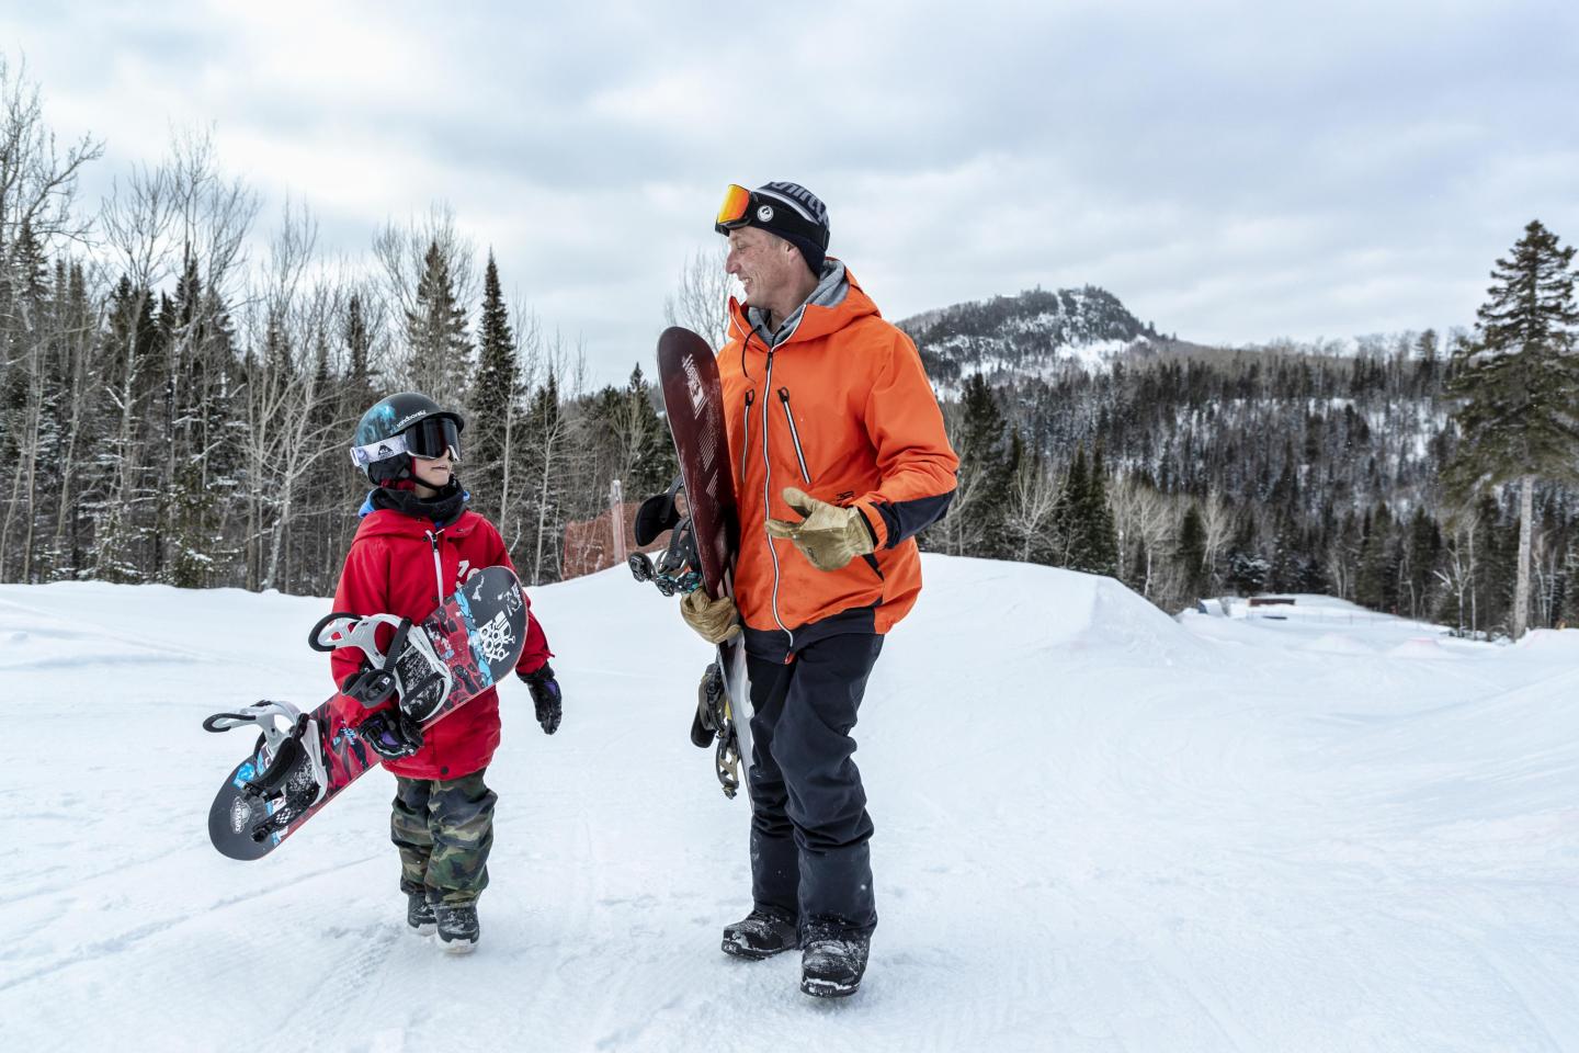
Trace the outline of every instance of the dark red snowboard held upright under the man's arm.
<path fill-rule="evenodd" d="M 741 521 L 729 469 L 729 440 L 723 423 L 718 360 L 706 339 L 671 327 L 658 336 L 658 385 L 681 477 L 665 494 L 643 502 L 636 540 L 649 545 L 669 532 L 657 560 L 630 557 L 638 581 L 652 581 L 665 595 L 704 589 L 712 598 L 733 595 L 734 557 Z M 679 508 L 684 493 L 685 510 Z M 744 785 L 742 764 L 752 761 L 752 703 L 741 636 L 718 644 L 718 654 L 696 693 L 692 742 L 714 745 L 714 774 L 726 797 Z"/>

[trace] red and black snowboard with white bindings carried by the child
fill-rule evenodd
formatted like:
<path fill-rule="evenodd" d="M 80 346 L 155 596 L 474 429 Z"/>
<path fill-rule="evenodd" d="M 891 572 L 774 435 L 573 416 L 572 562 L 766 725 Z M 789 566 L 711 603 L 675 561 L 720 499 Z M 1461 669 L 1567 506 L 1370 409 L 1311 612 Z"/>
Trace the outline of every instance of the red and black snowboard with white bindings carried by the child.
<path fill-rule="evenodd" d="M 371 709 L 395 698 L 423 728 L 444 720 L 515 669 L 526 646 L 526 617 L 516 576 L 508 567 L 486 567 L 420 624 L 393 614 L 321 619 L 308 646 L 355 647 L 366 660 L 365 673 L 311 712 L 262 701 L 204 721 L 207 731 L 256 726 L 261 733 L 213 799 L 208 840 L 231 859 L 272 853 L 382 763 L 355 728 Z M 387 647 L 377 644 L 381 628 L 393 631 Z"/>

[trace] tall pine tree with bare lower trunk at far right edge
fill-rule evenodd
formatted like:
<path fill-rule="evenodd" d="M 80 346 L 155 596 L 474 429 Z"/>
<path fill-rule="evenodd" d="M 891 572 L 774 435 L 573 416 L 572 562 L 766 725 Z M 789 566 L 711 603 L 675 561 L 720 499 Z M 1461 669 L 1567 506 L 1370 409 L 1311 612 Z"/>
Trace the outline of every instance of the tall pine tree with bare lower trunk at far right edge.
<path fill-rule="evenodd" d="M 1574 249 L 1532 221 L 1492 270 L 1476 339 L 1448 385 L 1459 401 L 1461 444 L 1446 483 L 1457 496 L 1519 483 L 1519 549 L 1511 633 L 1530 613 L 1530 519 L 1535 480 L 1574 482 L 1579 463 L 1579 305 Z"/>

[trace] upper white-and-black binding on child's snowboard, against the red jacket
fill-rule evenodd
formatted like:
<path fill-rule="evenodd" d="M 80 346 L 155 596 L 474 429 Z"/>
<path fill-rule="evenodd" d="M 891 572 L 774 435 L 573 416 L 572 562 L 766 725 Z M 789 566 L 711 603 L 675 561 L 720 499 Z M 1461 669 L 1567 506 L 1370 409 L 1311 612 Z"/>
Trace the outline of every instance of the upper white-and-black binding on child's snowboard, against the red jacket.
<path fill-rule="evenodd" d="M 388 652 L 381 650 L 377 644 L 381 625 L 395 630 Z M 355 647 L 363 654 L 365 665 L 346 677 L 339 693 L 357 699 L 366 709 L 377 709 L 395 696 L 401 712 L 422 723 L 450 696 L 448 666 L 433 649 L 426 633 L 412 631 L 409 617 L 336 611 L 319 619 L 306 643 L 313 650 Z"/>

